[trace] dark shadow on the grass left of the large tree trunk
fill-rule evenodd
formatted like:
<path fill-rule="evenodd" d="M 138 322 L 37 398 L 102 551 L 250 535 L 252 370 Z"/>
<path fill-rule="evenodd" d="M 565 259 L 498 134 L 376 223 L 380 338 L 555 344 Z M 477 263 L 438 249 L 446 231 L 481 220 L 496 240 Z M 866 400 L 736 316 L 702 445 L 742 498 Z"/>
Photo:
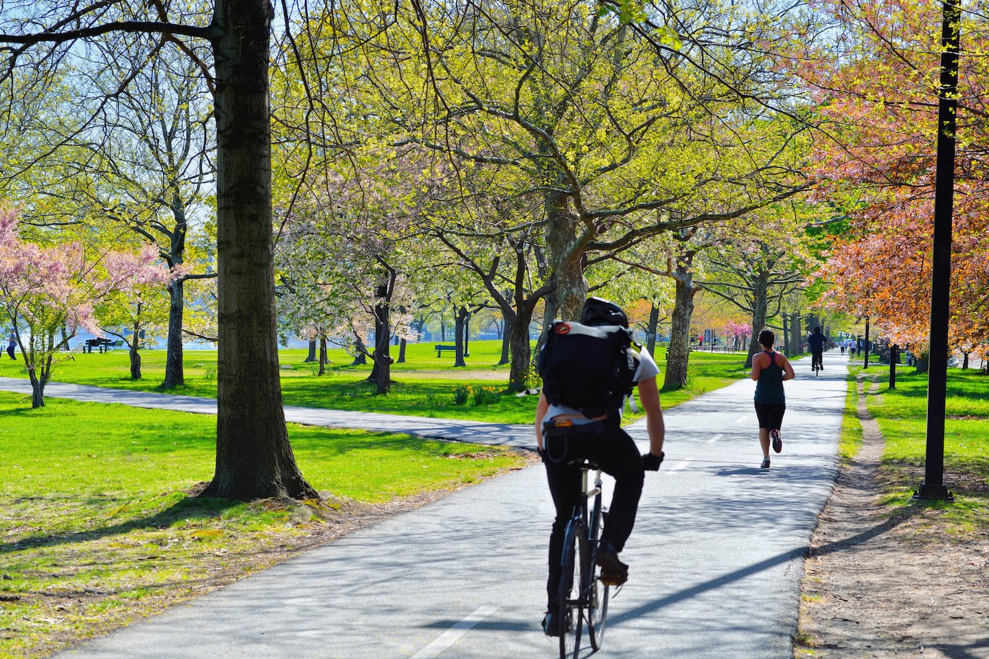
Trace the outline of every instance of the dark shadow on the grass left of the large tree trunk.
<path fill-rule="evenodd" d="M 25 499 L 38 498 L 24 497 L 15 500 L 15 503 Z M 104 537 L 123 535 L 139 529 L 166 528 L 180 519 L 216 518 L 225 510 L 241 505 L 243 505 L 243 502 L 232 499 L 196 499 L 186 497 L 154 515 L 131 519 L 123 523 L 75 533 L 47 533 L 24 537 L 16 542 L 3 542 L 0 543 L 0 553 L 9 553 L 22 549 L 54 547 L 73 542 L 89 542 Z"/>

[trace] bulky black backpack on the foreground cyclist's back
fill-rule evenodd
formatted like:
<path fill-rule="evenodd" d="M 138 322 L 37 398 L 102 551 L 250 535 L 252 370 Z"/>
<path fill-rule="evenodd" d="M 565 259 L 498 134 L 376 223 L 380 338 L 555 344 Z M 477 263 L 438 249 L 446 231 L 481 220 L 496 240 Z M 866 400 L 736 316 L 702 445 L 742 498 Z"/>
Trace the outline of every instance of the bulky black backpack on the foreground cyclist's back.
<path fill-rule="evenodd" d="M 580 410 L 588 419 L 606 413 L 617 425 L 635 384 L 638 362 L 629 350 L 633 343 L 632 331 L 620 325 L 557 321 L 547 329 L 536 358 L 546 400 Z"/>

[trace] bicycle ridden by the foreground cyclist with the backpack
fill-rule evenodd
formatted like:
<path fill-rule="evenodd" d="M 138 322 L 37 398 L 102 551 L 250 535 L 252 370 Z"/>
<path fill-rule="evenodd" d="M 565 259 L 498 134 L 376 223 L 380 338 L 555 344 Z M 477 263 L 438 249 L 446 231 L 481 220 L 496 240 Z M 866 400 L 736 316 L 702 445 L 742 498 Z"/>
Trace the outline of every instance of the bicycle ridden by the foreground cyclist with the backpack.
<path fill-rule="evenodd" d="M 589 460 L 580 463 L 582 488 L 580 504 L 564 532 L 563 576 L 560 579 L 560 657 L 577 659 L 581 651 L 584 622 L 590 647 L 601 647 L 608 614 L 610 586 L 601 582 L 595 563 L 599 534 L 607 512 L 601 507 L 601 470 Z M 587 472 L 593 471 L 593 488 L 587 488 Z M 587 509 L 588 499 L 593 506 Z"/>

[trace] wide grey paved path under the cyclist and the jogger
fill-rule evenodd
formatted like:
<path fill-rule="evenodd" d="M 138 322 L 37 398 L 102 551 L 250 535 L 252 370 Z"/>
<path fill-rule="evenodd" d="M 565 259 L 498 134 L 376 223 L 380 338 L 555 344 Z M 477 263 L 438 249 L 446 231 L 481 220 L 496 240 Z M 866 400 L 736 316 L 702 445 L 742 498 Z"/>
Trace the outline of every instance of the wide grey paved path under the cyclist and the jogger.
<path fill-rule="evenodd" d="M 795 367 L 770 469 L 751 381 L 669 411 L 667 462 L 647 475 L 601 656 L 793 656 L 846 391 L 844 367 L 818 378 L 809 360 Z M 644 427 L 632 432 L 645 448 Z M 539 628 L 551 517 L 542 469 L 513 472 L 58 656 L 552 657 Z"/>

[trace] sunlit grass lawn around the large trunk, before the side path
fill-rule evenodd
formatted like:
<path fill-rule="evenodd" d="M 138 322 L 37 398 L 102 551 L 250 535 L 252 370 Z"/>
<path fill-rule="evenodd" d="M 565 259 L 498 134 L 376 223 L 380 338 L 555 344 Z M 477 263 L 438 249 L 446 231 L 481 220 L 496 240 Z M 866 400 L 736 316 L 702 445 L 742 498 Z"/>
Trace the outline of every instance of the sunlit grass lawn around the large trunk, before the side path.
<path fill-rule="evenodd" d="M 0 393 L 0 657 L 33 657 L 266 567 L 337 516 L 531 463 L 501 447 L 290 424 L 325 502 L 188 496 L 216 420 Z"/>

